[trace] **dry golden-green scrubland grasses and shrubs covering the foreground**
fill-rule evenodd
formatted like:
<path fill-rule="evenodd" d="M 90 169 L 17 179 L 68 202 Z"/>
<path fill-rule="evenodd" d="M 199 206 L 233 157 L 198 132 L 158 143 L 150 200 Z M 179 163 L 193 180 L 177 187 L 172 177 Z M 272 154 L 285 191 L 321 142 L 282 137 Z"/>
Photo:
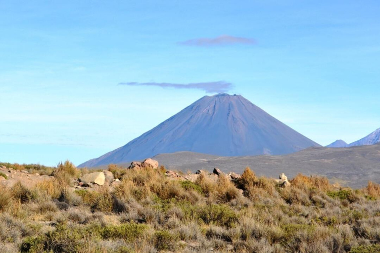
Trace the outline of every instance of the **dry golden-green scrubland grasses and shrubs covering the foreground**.
<path fill-rule="evenodd" d="M 70 162 L 29 169 L 54 178 L 0 188 L 0 253 L 380 252 L 372 182 L 352 190 L 299 174 L 281 188 L 248 168 L 235 181 L 203 173 L 191 182 L 110 166 L 121 182 L 90 191 L 71 187 L 88 171 Z"/>

